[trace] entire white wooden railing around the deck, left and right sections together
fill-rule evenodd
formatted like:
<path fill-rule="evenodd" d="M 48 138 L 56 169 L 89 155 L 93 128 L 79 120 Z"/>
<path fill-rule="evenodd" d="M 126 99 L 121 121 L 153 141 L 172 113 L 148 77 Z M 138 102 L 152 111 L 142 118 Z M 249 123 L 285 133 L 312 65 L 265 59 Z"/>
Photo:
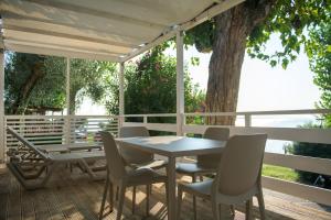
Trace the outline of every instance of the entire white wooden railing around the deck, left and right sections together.
<path fill-rule="evenodd" d="M 182 117 L 188 123 L 182 127 L 183 133 L 202 134 L 207 128 L 204 123 L 193 124 L 192 118 L 205 118 L 211 116 L 236 116 L 235 127 L 228 127 L 231 135 L 247 133 L 267 133 L 269 140 L 282 140 L 309 143 L 331 144 L 331 130 L 322 128 L 276 128 L 261 127 L 256 123 L 261 117 L 281 117 L 295 114 L 331 114 L 331 110 L 293 110 L 293 111 L 256 111 L 256 112 L 222 112 L 222 113 L 184 113 Z M 77 143 L 99 142 L 99 130 L 108 130 L 117 135 L 119 119 L 124 127 L 143 125 L 149 130 L 177 132 L 175 113 L 162 114 L 126 114 L 117 116 L 70 116 L 70 117 L 40 117 L 40 116 L 6 116 L 6 125 L 20 130 L 26 139 L 35 144 L 49 143 Z M 139 119 L 141 122 L 128 122 L 129 119 Z M 152 118 L 172 118 L 174 123 L 151 123 Z M 203 121 L 203 120 L 202 120 Z M 190 123 L 189 123 L 190 122 Z M 68 125 L 67 125 L 68 124 Z M 4 135 L 6 148 L 17 144 L 10 135 Z M 4 152 L 3 151 L 3 152 Z M 2 153 L 3 153 L 2 152 Z M 3 154 L 4 155 L 4 154 Z M 309 156 L 285 155 L 277 153 L 265 154 L 265 164 L 289 167 L 292 169 L 312 172 L 331 176 L 331 160 Z M 331 206 L 331 190 L 318 188 L 299 183 L 287 182 L 273 177 L 264 177 L 264 187 L 298 196 L 312 201 Z"/>

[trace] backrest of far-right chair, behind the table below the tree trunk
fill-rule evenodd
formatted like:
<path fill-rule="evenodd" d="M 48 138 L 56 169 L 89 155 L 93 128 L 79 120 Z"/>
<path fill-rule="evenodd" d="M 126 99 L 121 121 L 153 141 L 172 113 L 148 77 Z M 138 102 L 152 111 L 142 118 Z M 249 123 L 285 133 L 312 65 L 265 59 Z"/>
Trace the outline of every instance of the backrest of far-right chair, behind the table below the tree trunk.
<path fill-rule="evenodd" d="M 227 141 L 229 136 L 229 130 L 227 128 L 210 127 L 205 130 L 203 138 L 216 141 Z M 222 154 L 206 154 L 196 156 L 196 162 L 200 167 L 203 168 L 217 168 Z"/>

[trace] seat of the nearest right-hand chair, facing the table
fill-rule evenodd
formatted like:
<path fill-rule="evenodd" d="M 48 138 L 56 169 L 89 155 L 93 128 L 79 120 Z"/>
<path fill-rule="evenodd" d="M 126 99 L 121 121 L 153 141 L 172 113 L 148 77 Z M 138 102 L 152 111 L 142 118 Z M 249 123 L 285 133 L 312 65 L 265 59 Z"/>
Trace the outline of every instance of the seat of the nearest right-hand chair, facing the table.
<path fill-rule="evenodd" d="M 209 179 L 191 184 L 179 184 L 179 188 L 192 195 L 209 199 L 211 197 L 213 182 L 213 179 Z"/>

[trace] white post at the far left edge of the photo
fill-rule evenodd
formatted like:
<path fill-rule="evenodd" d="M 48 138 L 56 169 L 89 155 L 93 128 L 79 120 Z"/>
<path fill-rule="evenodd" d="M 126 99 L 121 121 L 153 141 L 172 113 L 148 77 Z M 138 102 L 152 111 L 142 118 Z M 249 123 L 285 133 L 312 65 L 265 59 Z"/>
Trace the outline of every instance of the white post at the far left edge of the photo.
<path fill-rule="evenodd" d="M 0 48 L 0 164 L 4 162 L 4 51 Z"/>

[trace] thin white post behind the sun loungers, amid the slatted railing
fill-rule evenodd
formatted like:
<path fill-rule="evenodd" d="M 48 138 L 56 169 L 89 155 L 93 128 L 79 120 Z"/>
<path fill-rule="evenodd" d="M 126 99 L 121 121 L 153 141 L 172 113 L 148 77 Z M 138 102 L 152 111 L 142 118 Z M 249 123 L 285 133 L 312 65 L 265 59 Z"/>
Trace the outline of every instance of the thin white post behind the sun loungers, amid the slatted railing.
<path fill-rule="evenodd" d="M 71 143 L 71 58 L 66 57 L 66 73 L 65 73 L 66 84 L 65 84 L 65 108 L 66 108 L 66 117 L 65 117 L 65 143 Z"/>

